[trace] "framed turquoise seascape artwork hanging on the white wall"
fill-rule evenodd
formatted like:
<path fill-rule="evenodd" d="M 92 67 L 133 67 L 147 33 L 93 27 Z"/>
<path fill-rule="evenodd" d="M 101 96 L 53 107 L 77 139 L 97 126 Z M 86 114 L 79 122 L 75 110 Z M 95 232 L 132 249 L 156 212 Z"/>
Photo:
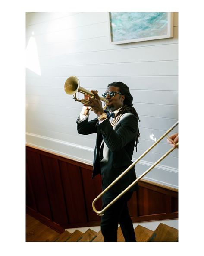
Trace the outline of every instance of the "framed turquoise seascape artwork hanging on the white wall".
<path fill-rule="evenodd" d="M 173 13 L 108 13 L 110 43 L 125 44 L 173 37 Z"/>

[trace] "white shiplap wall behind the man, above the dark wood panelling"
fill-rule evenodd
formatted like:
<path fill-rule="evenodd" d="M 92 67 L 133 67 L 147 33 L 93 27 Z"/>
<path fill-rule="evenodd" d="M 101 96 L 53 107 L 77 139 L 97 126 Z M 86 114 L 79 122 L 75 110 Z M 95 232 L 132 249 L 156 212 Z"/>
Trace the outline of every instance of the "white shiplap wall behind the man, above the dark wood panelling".
<path fill-rule="evenodd" d="M 27 13 L 26 47 L 28 145 L 92 163 L 96 136 L 77 133 L 82 104 L 64 92 L 71 75 L 99 95 L 113 81 L 129 86 L 141 119 L 134 160 L 178 120 L 178 13 L 173 38 L 123 45 L 110 45 L 107 13 Z M 163 139 L 137 165 L 137 175 L 168 149 Z M 145 179 L 178 188 L 178 150 Z"/>

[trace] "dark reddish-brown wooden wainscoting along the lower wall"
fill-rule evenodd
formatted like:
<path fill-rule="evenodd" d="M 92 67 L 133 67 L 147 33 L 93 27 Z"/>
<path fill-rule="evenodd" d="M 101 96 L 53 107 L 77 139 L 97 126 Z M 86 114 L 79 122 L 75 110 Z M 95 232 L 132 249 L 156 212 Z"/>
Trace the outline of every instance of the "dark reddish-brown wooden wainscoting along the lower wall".
<path fill-rule="evenodd" d="M 133 222 L 178 218 L 178 191 L 148 181 L 129 201 Z M 26 146 L 26 209 L 48 226 L 63 228 L 100 225 L 92 210 L 101 192 L 101 178 L 92 179 L 92 166 Z M 101 200 L 96 204 L 101 209 Z"/>

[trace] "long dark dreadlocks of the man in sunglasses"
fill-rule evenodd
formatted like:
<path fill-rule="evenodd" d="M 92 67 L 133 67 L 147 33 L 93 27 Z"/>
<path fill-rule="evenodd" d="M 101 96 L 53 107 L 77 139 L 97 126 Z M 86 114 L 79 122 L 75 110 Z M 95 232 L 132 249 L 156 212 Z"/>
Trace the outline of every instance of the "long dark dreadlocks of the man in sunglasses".
<path fill-rule="evenodd" d="M 136 112 L 135 108 L 132 107 L 132 101 L 133 101 L 133 97 L 130 93 L 129 87 L 122 83 L 122 82 L 113 82 L 111 84 L 108 84 L 107 88 L 110 86 L 115 86 L 115 87 L 119 87 L 119 91 L 122 93 L 122 95 L 125 95 L 125 100 L 123 101 L 123 107 L 119 110 L 119 112 L 117 113 L 115 120 L 116 122 L 118 122 L 118 120 L 120 119 L 120 117 L 122 117 L 122 115 L 124 113 L 130 112 L 133 115 L 135 115 L 135 117 L 137 118 L 137 121 L 140 122 L 138 113 Z M 114 123 L 115 125 L 116 123 Z M 136 152 L 137 152 L 137 146 L 139 143 L 139 137 L 140 137 L 140 132 L 139 132 L 139 128 L 138 128 L 138 133 L 137 136 L 135 138 L 135 147 L 136 147 Z"/>

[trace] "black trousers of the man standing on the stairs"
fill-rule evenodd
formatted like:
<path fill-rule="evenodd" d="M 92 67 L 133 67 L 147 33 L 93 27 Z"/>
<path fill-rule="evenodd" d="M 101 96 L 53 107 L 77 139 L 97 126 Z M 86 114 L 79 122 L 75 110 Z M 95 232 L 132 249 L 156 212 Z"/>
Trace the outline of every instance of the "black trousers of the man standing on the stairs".
<path fill-rule="evenodd" d="M 110 206 L 101 217 L 101 233 L 104 236 L 104 242 L 117 242 L 118 223 L 120 224 L 122 234 L 126 242 L 136 242 L 135 232 L 132 220 L 129 215 L 127 202 L 132 197 L 132 192 L 126 192 L 118 201 Z M 102 208 L 110 203 L 116 194 L 107 191 L 102 197 Z"/>

